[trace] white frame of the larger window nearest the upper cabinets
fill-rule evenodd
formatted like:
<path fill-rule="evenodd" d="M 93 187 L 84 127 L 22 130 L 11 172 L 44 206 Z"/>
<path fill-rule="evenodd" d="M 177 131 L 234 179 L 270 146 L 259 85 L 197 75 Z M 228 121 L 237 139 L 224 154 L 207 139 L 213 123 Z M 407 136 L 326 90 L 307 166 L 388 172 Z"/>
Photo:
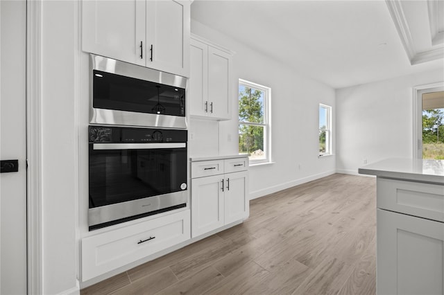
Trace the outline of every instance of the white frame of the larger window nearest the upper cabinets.
<path fill-rule="evenodd" d="M 264 127 L 264 156 L 265 159 L 249 159 L 250 166 L 254 166 L 257 164 L 271 163 L 271 87 L 266 87 L 261 84 L 257 84 L 255 82 L 250 82 L 248 80 L 240 79 L 237 85 L 237 102 L 239 103 L 239 87 L 244 86 L 248 88 L 257 89 L 259 91 L 264 92 L 264 122 L 263 123 L 254 123 L 248 121 L 239 120 L 239 105 L 237 107 L 238 111 L 238 152 L 239 152 L 239 126 L 240 125 L 250 125 L 250 126 L 261 126 Z M 239 152 L 239 154 L 241 154 Z M 248 158 L 250 158 L 248 156 Z"/>

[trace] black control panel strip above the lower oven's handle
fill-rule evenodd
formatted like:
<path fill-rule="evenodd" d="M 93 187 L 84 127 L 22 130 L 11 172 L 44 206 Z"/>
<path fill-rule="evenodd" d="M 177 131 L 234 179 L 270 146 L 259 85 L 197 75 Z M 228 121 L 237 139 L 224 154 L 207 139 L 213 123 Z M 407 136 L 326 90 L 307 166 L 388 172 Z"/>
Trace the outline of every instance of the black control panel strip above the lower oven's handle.
<path fill-rule="evenodd" d="M 89 126 L 89 143 L 186 143 L 187 130 Z"/>

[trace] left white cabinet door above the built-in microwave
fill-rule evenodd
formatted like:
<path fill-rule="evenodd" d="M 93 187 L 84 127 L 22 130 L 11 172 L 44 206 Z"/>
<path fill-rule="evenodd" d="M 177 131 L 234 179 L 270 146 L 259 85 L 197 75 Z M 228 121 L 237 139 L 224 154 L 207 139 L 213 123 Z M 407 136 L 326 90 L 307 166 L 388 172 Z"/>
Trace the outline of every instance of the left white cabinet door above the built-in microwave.
<path fill-rule="evenodd" d="M 145 65 L 145 1 L 83 1 L 82 49 Z"/>

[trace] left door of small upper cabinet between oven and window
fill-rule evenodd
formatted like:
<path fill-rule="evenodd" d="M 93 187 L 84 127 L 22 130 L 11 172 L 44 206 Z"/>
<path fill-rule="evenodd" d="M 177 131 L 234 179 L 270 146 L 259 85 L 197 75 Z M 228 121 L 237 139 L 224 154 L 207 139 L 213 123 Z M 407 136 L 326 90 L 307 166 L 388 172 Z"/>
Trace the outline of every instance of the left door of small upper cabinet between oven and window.
<path fill-rule="evenodd" d="M 191 39 L 188 101 L 191 116 L 207 116 L 208 105 L 208 46 Z"/>

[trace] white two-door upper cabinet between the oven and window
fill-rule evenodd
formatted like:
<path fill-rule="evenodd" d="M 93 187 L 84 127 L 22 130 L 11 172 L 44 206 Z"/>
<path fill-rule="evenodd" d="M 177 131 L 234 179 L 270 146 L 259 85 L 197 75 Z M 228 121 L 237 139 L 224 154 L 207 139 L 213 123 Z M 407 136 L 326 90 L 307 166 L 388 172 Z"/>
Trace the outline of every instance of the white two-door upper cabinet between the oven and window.
<path fill-rule="evenodd" d="M 189 113 L 216 120 L 231 119 L 232 54 L 198 37 L 191 37 Z"/>

